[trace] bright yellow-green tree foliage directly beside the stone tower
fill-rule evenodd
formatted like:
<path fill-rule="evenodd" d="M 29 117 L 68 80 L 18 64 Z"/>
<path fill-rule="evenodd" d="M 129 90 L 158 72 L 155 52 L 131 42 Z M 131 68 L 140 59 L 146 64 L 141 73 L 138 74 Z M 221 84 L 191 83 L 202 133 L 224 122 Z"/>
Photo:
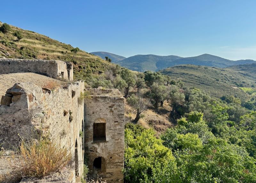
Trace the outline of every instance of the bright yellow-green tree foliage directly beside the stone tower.
<path fill-rule="evenodd" d="M 130 125 L 130 124 L 129 124 Z M 174 182 L 176 163 L 152 129 L 130 125 L 125 129 L 125 181 L 131 183 Z"/>

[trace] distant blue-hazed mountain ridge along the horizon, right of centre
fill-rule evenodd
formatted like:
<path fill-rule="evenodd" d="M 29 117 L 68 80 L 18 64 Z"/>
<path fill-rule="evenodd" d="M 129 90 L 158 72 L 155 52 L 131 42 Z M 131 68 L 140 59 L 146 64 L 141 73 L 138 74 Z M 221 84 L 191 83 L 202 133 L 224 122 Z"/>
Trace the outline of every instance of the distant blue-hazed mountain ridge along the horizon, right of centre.
<path fill-rule="evenodd" d="M 124 60 L 116 62 L 122 67 L 129 68 L 135 71 L 159 71 L 164 68 L 182 65 L 193 64 L 201 66 L 226 68 L 228 66 L 239 64 L 255 63 L 254 60 L 228 60 L 218 56 L 203 54 L 196 57 L 182 58 L 179 56 L 158 56 L 158 55 L 135 55 Z"/>

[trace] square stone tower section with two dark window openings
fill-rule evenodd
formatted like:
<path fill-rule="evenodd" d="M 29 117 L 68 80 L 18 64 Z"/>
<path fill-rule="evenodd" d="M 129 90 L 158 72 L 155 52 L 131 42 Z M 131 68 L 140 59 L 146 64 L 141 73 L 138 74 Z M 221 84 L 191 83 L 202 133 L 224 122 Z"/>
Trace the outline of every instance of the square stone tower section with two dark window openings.
<path fill-rule="evenodd" d="M 108 182 L 123 182 L 124 168 L 124 98 L 116 89 L 95 94 L 84 103 L 85 156 L 88 159 L 89 174 L 102 177 Z M 119 95 L 112 95 L 113 92 Z M 102 125 L 95 125 L 101 123 Z M 96 137 L 102 133 L 105 123 L 105 138 Z M 94 126 L 95 125 L 95 126 Z M 95 129 L 95 127 L 98 127 Z M 96 158 L 101 158 L 100 160 Z M 97 160 L 97 161 L 96 161 Z M 95 162 L 96 161 L 96 162 Z M 97 164 L 100 161 L 100 165 Z M 94 164 L 95 163 L 95 164 Z"/>

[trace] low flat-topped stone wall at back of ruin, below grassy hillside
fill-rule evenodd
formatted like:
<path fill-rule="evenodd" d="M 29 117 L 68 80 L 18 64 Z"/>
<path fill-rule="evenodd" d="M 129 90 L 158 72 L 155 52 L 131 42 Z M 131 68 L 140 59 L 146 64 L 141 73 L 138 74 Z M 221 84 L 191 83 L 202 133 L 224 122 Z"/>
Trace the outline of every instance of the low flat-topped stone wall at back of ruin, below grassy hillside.
<path fill-rule="evenodd" d="M 0 74 L 32 72 L 55 79 L 73 80 L 73 66 L 60 60 L 0 59 Z"/>

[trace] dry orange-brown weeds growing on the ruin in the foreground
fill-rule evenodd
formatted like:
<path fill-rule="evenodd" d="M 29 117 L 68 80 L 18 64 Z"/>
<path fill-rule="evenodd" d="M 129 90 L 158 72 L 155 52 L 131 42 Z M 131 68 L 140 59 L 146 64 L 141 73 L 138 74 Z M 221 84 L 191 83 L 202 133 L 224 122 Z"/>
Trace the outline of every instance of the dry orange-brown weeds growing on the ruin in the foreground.
<path fill-rule="evenodd" d="M 71 162 L 71 154 L 49 140 L 31 144 L 21 142 L 20 175 L 22 177 L 42 178 L 52 172 L 60 171 Z"/>

